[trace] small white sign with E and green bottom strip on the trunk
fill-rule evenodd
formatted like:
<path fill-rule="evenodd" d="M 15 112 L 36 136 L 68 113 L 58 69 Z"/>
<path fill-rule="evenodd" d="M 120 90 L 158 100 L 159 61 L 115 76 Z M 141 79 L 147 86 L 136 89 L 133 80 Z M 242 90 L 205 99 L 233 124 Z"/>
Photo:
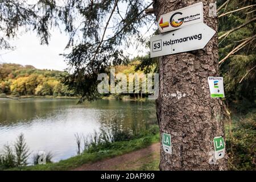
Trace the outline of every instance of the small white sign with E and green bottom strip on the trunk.
<path fill-rule="evenodd" d="M 223 77 L 208 77 L 210 97 L 225 97 Z"/>

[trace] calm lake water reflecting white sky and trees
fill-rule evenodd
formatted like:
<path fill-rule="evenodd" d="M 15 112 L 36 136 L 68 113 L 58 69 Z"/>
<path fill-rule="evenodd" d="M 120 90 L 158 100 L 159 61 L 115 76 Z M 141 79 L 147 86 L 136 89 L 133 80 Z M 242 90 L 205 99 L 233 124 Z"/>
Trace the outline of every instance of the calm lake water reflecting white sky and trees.
<path fill-rule="evenodd" d="M 51 151 L 57 162 L 76 155 L 76 133 L 110 129 L 114 122 L 122 129 L 156 122 L 154 101 L 76 103 L 72 99 L 0 99 L 0 150 L 23 133 L 31 154 Z"/>

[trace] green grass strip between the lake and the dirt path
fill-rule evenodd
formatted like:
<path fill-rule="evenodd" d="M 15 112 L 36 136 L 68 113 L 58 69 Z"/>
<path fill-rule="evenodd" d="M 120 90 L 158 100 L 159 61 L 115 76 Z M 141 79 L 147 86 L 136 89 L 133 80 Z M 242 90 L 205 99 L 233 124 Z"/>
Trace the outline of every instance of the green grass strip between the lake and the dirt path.
<path fill-rule="evenodd" d="M 84 152 L 81 155 L 74 156 L 67 160 L 61 160 L 58 163 L 49 163 L 45 165 L 27 166 L 22 168 L 11 168 L 8 170 L 22 170 L 22 171 L 59 171 L 70 170 L 81 166 L 85 163 L 93 163 L 98 160 L 113 158 L 114 156 L 126 154 L 131 151 L 139 150 L 150 146 L 152 143 L 159 142 L 159 134 L 147 135 L 139 139 L 132 139 L 129 141 L 113 142 L 105 150 L 97 152 Z"/>

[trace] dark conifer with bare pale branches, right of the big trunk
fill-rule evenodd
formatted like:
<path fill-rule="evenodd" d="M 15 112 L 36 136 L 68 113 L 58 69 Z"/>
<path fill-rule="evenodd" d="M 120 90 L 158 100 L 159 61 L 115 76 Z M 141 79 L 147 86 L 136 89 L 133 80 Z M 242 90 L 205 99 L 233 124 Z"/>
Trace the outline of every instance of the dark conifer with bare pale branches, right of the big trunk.
<path fill-rule="evenodd" d="M 219 63 L 226 99 L 230 106 L 241 105 L 244 113 L 256 99 L 255 4 L 218 1 L 218 7 Z"/>

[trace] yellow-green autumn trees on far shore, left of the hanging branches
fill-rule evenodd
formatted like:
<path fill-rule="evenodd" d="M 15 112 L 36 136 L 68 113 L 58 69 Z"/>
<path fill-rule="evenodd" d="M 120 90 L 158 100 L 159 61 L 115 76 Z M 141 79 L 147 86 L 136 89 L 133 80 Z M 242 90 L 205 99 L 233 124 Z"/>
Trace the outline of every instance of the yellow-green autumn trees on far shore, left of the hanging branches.
<path fill-rule="evenodd" d="M 0 64 L 0 94 L 13 96 L 74 96 L 61 82 L 67 72 L 36 69 L 31 65 Z"/>

